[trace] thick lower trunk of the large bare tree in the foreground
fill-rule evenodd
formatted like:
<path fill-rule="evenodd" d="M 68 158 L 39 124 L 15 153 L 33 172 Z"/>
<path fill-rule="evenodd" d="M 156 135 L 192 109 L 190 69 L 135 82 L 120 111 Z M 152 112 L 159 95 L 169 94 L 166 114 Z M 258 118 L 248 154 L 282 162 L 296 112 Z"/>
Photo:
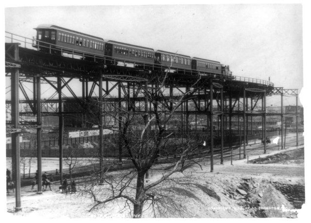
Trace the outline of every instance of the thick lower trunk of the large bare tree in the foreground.
<path fill-rule="evenodd" d="M 142 207 L 143 207 L 143 199 L 145 195 L 144 191 L 144 171 L 139 171 L 137 176 L 137 188 L 136 188 L 136 197 L 134 204 L 134 213 L 133 218 L 141 218 Z"/>

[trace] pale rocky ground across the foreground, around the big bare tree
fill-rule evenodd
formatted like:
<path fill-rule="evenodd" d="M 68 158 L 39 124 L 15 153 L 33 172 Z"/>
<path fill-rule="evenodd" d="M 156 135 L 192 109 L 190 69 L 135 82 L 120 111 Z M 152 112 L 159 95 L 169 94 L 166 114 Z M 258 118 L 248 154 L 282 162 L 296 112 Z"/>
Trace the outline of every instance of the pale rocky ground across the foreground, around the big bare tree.
<path fill-rule="evenodd" d="M 166 197 L 167 203 L 154 208 L 146 204 L 142 217 L 296 218 L 305 201 L 303 151 L 303 146 L 292 147 L 284 152 L 276 150 L 260 155 L 260 161 L 257 155 L 249 156 L 248 162 L 246 159 L 234 160 L 233 165 L 230 165 L 230 160 L 225 160 L 224 165 L 215 160 L 212 173 L 209 161 L 198 159 L 196 161 L 201 166 L 192 165 L 183 173 L 175 173 L 171 181 L 154 189 Z M 158 170 L 165 165 L 169 166 L 161 164 L 154 167 L 146 185 L 161 177 L 163 172 Z M 110 174 L 122 175 L 125 171 Z M 82 185 L 78 184 L 78 190 L 81 188 Z M 56 184 L 52 185 L 52 191 L 44 191 L 42 195 L 32 192 L 31 187 L 22 188 L 23 209 L 18 213 L 13 211 L 15 197 L 7 196 L 7 211 L 11 216 L 131 217 L 132 207 L 125 200 L 115 200 L 89 211 L 94 204 L 89 195 L 79 191 L 60 193 Z"/>

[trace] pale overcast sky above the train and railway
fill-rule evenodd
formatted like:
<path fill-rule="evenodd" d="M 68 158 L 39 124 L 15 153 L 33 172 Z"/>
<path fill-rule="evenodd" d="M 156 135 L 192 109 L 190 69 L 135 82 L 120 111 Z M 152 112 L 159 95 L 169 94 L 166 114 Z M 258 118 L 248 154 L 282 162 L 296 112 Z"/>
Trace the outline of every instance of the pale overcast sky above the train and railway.
<path fill-rule="evenodd" d="M 219 61 L 276 87 L 303 86 L 301 4 L 5 8 L 7 32 L 31 38 L 44 23 Z"/>

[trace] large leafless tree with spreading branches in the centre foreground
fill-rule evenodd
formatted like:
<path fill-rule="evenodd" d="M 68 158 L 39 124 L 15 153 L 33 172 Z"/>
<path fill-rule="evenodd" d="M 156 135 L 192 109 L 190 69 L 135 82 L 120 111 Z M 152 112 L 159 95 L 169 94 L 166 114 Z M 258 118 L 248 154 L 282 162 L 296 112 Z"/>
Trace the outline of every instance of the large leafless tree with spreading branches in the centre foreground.
<path fill-rule="evenodd" d="M 110 107 L 113 108 L 111 111 L 99 110 L 100 115 L 97 114 L 99 118 L 102 118 L 103 115 L 110 115 L 121 122 L 119 143 L 121 143 L 123 155 L 130 159 L 132 168 L 121 175 L 118 173 L 108 174 L 106 171 L 105 184 L 102 188 L 96 187 L 95 184 L 86 185 L 84 192 L 91 194 L 96 203 L 90 211 L 116 199 L 125 199 L 125 207 L 130 210 L 133 207 L 132 216 L 134 218 L 141 218 L 146 203 L 153 209 L 155 205 L 163 207 L 164 203 L 168 206 L 171 204 L 170 207 L 173 207 L 173 202 L 168 196 L 159 194 L 154 189 L 169 180 L 173 173 L 183 171 L 190 166 L 190 162 L 185 165 L 186 160 L 196 163 L 192 158 L 199 143 L 196 140 L 188 139 L 173 145 L 173 140 L 170 138 L 172 132 L 168 126 L 182 103 L 186 102 L 197 90 L 200 77 L 198 76 L 197 81 L 186 88 L 183 95 L 164 97 L 169 75 L 168 72 L 164 76 L 159 75 L 153 80 L 153 87 L 145 86 L 142 91 L 152 105 L 149 114 L 128 109 L 135 106 L 131 104 L 131 101 L 128 101 L 128 108 L 120 108 L 120 106 L 111 104 Z M 138 127 L 140 127 L 140 131 L 137 130 Z M 174 139 L 174 141 L 178 141 L 178 139 Z M 161 177 L 145 184 L 148 171 L 161 162 L 160 154 L 165 156 L 167 158 L 165 161 L 170 162 L 171 165 L 165 168 Z M 165 199 L 163 199 L 164 197 Z M 174 210 L 177 209 L 174 208 Z"/>

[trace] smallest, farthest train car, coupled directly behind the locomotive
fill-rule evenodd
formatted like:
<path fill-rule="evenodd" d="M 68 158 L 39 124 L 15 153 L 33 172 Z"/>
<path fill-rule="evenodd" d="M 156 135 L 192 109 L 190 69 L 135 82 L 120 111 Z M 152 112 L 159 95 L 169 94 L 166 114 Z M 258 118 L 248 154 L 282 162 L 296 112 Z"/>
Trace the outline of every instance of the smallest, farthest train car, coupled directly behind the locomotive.
<path fill-rule="evenodd" d="M 193 70 L 198 70 L 201 72 L 221 74 L 222 64 L 217 61 L 211 61 L 206 59 L 201 59 L 198 57 L 193 57 L 191 61 L 191 68 Z"/>

